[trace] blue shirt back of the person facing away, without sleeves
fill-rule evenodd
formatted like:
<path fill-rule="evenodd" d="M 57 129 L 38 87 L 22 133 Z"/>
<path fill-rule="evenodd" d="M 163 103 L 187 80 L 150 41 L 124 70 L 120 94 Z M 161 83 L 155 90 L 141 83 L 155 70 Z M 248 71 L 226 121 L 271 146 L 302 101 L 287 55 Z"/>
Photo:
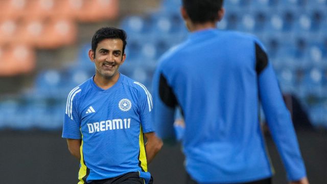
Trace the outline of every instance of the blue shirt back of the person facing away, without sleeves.
<path fill-rule="evenodd" d="M 161 74 L 174 89 L 186 122 L 187 168 L 199 180 L 271 175 L 258 122 L 254 49 L 250 36 L 206 30 L 193 33 L 162 63 Z M 198 167 L 203 172 L 193 171 Z"/>

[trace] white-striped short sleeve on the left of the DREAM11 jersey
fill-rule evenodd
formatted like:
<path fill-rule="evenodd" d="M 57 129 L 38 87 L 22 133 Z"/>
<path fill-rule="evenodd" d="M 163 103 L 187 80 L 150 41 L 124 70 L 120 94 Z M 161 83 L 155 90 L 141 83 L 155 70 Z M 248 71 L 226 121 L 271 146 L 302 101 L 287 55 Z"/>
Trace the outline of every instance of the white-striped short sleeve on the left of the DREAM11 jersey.
<path fill-rule="evenodd" d="M 80 127 L 81 121 L 78 113 L 78 99 L 76 95 L 80 93 L 81 89 L 79 87 L 74 88 L 67 97 L 63 127 L 62 127 L 62 137 L 67 139 L 82 139 Z"/>

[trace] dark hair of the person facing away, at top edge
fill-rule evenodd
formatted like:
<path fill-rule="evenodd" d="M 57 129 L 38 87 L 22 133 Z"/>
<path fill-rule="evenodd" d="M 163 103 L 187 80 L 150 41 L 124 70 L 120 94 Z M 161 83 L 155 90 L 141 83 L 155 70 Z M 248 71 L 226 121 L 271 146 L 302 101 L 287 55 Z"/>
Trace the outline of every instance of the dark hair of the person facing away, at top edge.
<path fill-rule="evenodd" d="M 195 24 L 217 20 L 223 2 L 223 0 L 182 0 L 186 13 Z"/>

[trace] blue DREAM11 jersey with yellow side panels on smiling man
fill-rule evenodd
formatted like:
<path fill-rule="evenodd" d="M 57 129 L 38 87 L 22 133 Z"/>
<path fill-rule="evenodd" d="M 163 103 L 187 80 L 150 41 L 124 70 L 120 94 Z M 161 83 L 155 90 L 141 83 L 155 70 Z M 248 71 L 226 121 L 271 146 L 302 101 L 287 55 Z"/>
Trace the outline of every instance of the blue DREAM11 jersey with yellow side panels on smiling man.
<path fill-rule="evenodd" d="M 122 74 L 110 88 L 93 77 L 69 93 L 62 137 L 81 139 L 79 184 L 139 172 L 146 183 L 143 133 L 154 131 L 147 88 Z"/>

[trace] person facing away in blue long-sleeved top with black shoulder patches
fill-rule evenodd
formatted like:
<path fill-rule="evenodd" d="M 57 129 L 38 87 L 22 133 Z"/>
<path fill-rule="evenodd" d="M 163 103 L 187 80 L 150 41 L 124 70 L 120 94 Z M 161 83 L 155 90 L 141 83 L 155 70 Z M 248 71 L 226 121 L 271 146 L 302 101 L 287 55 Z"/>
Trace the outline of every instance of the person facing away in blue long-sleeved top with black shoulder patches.
<path fill-rule="evenodd" d="M 290 183 L 307 184 L 290 113 L 262 43 L 219 31 L 223 1 L 183 0 L 191 34 L 160 58 L 153 79 L 154 119 L 162 139 L 174 139 L 174 108 L 185 121 L 186 183 L 271 183 L 259 121 L 261 101 Z"/>

